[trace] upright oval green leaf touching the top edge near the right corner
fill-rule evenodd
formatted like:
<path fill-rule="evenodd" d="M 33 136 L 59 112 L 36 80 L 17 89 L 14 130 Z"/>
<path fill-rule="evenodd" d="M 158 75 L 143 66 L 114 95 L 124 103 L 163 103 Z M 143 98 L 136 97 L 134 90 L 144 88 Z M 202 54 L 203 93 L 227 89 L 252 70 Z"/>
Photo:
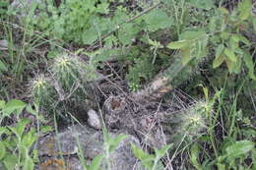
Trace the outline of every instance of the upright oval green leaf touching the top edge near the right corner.
<path fill-rule="evenodd" d="M 252 10 L 251 0 L 243 0 L 238 4 L 238 10 L 240 12 L 239 19 L 246 20 L 249 18 Z"/>

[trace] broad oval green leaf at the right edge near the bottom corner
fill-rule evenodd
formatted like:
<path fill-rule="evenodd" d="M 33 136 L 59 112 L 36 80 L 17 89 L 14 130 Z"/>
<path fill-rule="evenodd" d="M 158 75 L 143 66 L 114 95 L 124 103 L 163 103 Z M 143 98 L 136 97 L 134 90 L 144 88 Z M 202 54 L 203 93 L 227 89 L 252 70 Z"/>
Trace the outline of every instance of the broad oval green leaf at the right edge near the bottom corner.
<path fill-rule="evenodd" d="M 254 148 L 254 146 L 255 143 L 250 141 L 234 142 L 225 148 L 225 152 L 229 159 L 234 159 L 248 153 Z"/>

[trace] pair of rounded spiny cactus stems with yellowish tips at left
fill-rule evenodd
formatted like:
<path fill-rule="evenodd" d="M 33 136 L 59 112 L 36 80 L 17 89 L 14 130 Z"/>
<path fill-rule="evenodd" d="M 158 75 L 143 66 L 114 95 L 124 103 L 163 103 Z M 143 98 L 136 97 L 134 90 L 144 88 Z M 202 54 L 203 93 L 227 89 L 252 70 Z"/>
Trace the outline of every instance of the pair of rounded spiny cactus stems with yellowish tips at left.
<path fill-rule="evenodd" d="M 56 110 L 57 105 L 87 98 L 87 83 L 96 78 L 92 65 L 67 54 L 53 59 L 47 74 L 39 75 L 30 85 L 33 100 L 41 108 Z"/>

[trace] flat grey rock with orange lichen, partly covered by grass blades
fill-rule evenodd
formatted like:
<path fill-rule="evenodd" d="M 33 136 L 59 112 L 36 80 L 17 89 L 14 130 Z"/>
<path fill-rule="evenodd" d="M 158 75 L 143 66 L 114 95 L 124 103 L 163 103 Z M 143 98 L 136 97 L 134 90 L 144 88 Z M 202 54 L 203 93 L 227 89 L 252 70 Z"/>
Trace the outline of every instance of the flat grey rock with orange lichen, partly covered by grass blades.
<path fill-rule="evenodd" d="M 115 138 L 119 134 L 110 133 L 110 138 Z M 136 144 L 140 147 L 140 142 L 137 138 L 126 135 L 127 138 L 119 143 L 117 148 L 110 153 L 111 170 L 131 170 L 140 169 L 141 165 L 138 164 L 137 158 L 133 155 L 130 144 Z M 57 142 L 58 139 L 58 142 Z M 81 127 L 73 126 L 69 130 L 59 133 L 55 137 L 44 137 L 39 139 L 37 149 L 39 157 L 47 157 L 43 163 L 41 163 L 37 169 L 43 170 L 53 165 L 56 168 L 63 166 L 63 162 L 58 161 L 57 157 L 62 154 L 64 157 L 69 157 L 65 160 L 65 163 L 70 166 L 70 169 L 82 170 L 82 164 L 77 157 L 79 153 L 79 145 L 83 150 L 86 162 L 90 164 L 90 161 L 98 154 L 104 154 L 104 142 L 102 132 Z M 61 151 L 58 149 L 60 145 Z M 72 162 L 70 162 L 72 157 Z M 48 163 L 47 163 L 48 162 Z M 101 166 L 105 167 L 105 162 L 102 162 Z M 57 170 L 57 169 L 56 169 Z"/>

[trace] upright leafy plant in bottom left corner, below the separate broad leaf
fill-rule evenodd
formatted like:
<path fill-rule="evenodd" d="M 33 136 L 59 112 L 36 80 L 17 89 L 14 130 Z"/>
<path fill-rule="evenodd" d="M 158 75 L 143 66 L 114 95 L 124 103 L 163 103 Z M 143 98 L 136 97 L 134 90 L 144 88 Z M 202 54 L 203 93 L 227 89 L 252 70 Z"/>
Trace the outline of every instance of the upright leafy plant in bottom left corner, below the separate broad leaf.
<path fill-rule="evenodd" d="M 0 162 L 4 169 L 33 169 L 34 163 L 30 156 L 30 149 L 37 137 L 34 129 L 25 133 L 29 123 L 28 119 L 22 119 L 16 127 L 1 127 L 1 135 L 6 135 L 0 142 L 2 147 Z"/>

